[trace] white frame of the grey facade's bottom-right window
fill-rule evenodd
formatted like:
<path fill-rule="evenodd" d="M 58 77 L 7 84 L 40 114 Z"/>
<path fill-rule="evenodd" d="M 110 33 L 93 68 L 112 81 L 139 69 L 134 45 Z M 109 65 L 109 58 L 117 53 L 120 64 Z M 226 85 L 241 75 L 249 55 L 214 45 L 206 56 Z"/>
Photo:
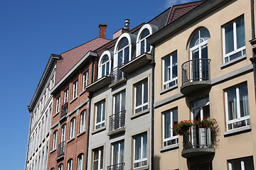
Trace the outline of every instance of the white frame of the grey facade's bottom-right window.
<path fill-rule="evenodd" d="M 138 135 L 135 135 L 134 137 L 133 137 L 133 147 L 134 147 L 134 149 L 133 149 L 133 168 L 134 169 L 138 169 L 138 168 L 140 168 L 140 167 L 143 167 L 143 166 L 138 166 L 138 167 L 134 167 L 134 164 L 136 164 L 136 163 L 139 163 L 139 162 L 144 162 L 144 161 L 146 161 L 146 165 L 144 165 L 144 166 L 147 166 L 149 163 L 147 162 L 147 157 L 148 157 L 148 155 L 146 155 L 146 158 L 143 158 L 143 141 L 144 141 L 144 137 L 143 137 L 143 135 L 144 134 L 146 134 L 146 152 L 147 152 L 147 154 L 148 154 L 148 146 L 149 146 L 149 143 L 148 143 L 148 134 L 147 134 L 147 132 L 144 132 L 144 133 L 142 133 L 142 134 L 138 134 Z M 136 140 L 135 140 L 135 137 L 141 137 L 141 159 L 137 159 L 137 160 L 135 160 L 135 142 L 136 142 Z"/>

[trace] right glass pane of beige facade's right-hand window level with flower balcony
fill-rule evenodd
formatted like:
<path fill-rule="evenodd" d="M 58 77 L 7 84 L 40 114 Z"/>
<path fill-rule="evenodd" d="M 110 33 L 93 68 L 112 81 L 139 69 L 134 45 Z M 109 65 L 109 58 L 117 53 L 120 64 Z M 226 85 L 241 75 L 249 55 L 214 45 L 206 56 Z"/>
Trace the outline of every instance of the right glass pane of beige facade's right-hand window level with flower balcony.
<path fill-rule="evenodd" d="M 247 85 L 239 87 L 239 96 L 240 96 L 240 115 L 241 115 L 241 117 L 249 115 Z"/>

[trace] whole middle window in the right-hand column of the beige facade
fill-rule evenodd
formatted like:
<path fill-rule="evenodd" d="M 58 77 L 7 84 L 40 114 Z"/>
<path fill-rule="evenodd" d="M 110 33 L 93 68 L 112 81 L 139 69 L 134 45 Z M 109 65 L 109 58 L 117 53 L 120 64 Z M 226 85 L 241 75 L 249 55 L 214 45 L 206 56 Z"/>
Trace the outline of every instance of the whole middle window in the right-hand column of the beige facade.
<path fill-rule="evenodd" d="M 247 84 L 225 91 L 228 130 L 250 125 Z"/>

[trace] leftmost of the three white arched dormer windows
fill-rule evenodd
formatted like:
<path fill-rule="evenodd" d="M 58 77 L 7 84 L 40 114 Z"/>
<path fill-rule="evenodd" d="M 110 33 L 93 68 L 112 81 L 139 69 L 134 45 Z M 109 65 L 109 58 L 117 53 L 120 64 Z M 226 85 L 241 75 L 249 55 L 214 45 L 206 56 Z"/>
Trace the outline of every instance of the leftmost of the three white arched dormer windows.
<path fill-rule="evenodd" d="M 105 51 L 100 56 L 98 67 L 98 79 L 110 75 L 112 67 L 112 56 L 113 52 L 111 51 Z"/>

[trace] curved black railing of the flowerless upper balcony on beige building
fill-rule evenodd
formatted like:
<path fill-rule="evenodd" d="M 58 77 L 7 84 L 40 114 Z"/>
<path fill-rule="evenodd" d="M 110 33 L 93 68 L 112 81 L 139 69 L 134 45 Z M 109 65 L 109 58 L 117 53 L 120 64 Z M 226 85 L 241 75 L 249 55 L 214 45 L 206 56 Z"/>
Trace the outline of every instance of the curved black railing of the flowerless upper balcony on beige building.
<path fill-rule="evenodd" d="M 182 69 L 182 85 L 194 81 L 210 81 L 210 59 L 194 59 L 184 62 Z"/>

